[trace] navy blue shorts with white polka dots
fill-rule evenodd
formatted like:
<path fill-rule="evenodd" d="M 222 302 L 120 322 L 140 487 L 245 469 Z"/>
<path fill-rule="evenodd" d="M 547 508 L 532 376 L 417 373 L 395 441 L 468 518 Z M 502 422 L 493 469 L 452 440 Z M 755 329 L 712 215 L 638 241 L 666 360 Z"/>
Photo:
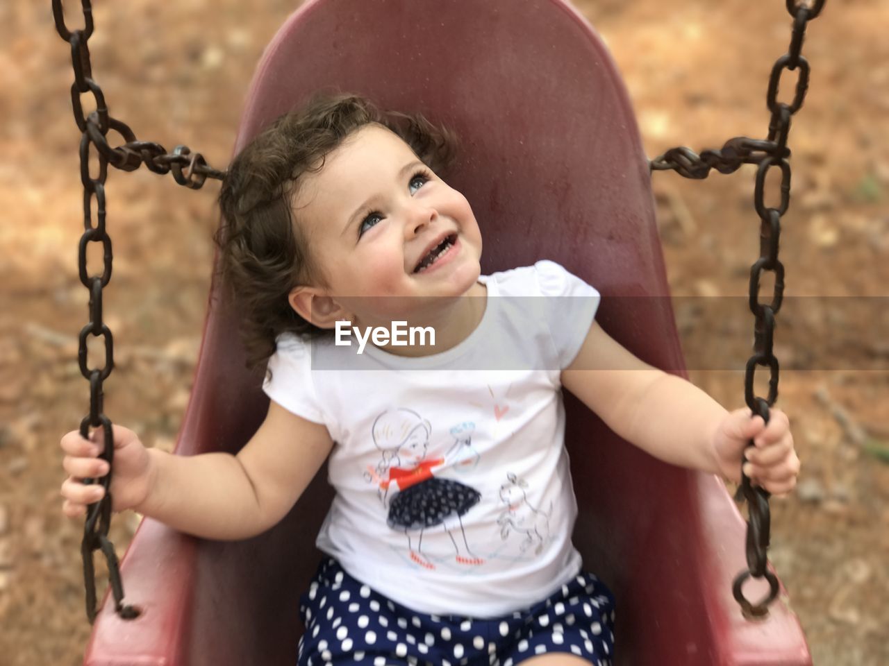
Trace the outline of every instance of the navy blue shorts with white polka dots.
<path fill-rule="evenodd" d="M 299 666 L 513 666 L 549 653 L 611 666 L 614 597 L 581 572 L 549 599 L 502 617 L 416 613 L 325 559 L 300 599 Z"/>

